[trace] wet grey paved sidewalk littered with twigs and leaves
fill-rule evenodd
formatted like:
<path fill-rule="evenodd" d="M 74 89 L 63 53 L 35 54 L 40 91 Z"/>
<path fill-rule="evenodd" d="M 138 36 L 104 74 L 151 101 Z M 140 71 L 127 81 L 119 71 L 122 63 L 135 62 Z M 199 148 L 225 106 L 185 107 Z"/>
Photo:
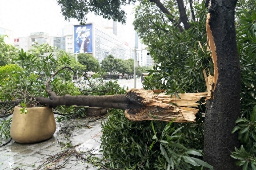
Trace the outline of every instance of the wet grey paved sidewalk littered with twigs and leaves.
<path fill-rule="evenodd" d="M 86 163 L 76 153 L 82 152 L 84 158 L 103 157 L 99 152 L 101 121 L 102 118 L 86 118 L 56 122 L 54 136 L 40 143 L 19 144 L 12 140 L 0 147 L 0 170 L 98 170 L 97 165 Z"/>

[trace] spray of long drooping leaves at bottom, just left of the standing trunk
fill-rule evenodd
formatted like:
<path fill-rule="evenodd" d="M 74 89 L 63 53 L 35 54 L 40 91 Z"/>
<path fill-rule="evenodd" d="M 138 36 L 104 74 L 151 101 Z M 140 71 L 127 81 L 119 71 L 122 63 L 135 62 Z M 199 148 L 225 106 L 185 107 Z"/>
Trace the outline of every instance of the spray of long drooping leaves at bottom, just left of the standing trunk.
<path fill-rule="evenodd" d="M 153 122 L 151 122 L 152 129 L 155 131 Z M 156 137 L 156 133 L 152 139 L 156 140 L 152 145 L 158 145 L 160 143 L 160 151 L 163 156 L 160 162 L 166 161 L 168 169 L 200 169 L 201 166 L 206 168 L 213 168 L 210 164 L 204 162 L 202 158 L 203 154 L 200 150 L 189 149 L 185 147 L 186 143 L 183 142 L 184 134 L 181 130 L 184 126 L 176 127 L 173 122 L 166 125 L 162 131 L 160 139 Z M 152 148 L 150 146 L 150 149 Z M 158 158 L 159 160 L 160 158 Z M 164 160 L 163 160 L 164 159 Z M 184 160 L 184 161 L 180 161 Z"/>

